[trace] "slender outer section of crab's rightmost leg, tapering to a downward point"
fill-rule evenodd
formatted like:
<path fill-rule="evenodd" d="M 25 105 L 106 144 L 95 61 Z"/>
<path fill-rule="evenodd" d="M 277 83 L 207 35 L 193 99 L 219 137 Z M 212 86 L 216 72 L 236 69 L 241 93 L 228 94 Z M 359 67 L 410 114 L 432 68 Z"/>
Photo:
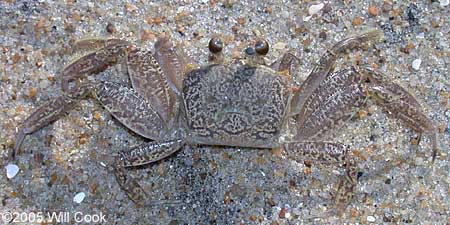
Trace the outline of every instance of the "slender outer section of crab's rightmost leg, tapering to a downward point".
<path fill-rule="evenodd" d="M 437 130 L 414 96 L 400 85 L 388 81 L 381 71 L 362 69 L 362 72 L 366 73 L 371 80 L 368 84 L 368 92 L 377 105 L 386 110 L 389 116 L 399 119 L 415 132 L 431 135 L 432 161 L 434 161 L 438 151 Z"/>

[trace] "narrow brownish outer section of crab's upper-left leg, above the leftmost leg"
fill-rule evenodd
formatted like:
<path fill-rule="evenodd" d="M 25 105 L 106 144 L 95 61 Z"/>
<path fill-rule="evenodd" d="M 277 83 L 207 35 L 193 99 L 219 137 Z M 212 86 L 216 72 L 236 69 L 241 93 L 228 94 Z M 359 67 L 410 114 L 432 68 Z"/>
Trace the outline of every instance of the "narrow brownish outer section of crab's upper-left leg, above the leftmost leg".
<path fill-rule="evenodd" d="M 106 69 L 123 58 L 131 46 L 126 41 L 113 42 L 95 52 L 82 56 L 66 66 L 62 72 L 62 89 L 69 90 L 69 82 L 85 74 L 92 74 Z"/>

